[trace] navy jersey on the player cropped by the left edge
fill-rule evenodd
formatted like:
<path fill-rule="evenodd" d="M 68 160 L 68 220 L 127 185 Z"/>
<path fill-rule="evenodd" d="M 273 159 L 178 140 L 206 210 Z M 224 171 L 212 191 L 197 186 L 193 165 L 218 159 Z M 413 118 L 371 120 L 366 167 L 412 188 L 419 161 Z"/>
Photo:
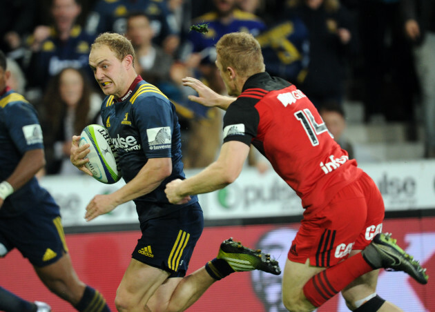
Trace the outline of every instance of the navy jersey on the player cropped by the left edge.
<path fill-rule="evenodd" d="M 28 150 L 43 148 L 37 112 L 13 90 L 0 95 L 0 181 L 7 179 Z M 0 208 L 0 217 L 12 217 L 46 201 L 54 202 L 39 186 L 36 177 L 8 196 Z"/>

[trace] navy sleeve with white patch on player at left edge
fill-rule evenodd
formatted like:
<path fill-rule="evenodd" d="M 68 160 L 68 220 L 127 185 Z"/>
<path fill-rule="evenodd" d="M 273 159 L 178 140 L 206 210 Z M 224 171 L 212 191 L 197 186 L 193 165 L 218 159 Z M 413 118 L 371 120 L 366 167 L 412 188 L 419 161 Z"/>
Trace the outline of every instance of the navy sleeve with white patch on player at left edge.
<path fill-rule="evenodd" d="M 20 153 L 43 148 L 41 126 L 35 108 L 24 102 L 6 106 L 6 127 Z"/>

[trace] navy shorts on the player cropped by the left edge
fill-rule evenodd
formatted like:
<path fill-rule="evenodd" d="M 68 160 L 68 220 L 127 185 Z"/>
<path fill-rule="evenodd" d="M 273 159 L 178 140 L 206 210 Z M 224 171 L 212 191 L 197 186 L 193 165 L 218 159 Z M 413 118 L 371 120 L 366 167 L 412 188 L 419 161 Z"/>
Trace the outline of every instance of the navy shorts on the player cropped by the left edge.
<path fill-rule="evenodd" d="M 0 247 L 17 248 L 33 266 L 57 262 L 68 252 L 59 206 L 47 198 L 17 217 L 1 218 Z"/>

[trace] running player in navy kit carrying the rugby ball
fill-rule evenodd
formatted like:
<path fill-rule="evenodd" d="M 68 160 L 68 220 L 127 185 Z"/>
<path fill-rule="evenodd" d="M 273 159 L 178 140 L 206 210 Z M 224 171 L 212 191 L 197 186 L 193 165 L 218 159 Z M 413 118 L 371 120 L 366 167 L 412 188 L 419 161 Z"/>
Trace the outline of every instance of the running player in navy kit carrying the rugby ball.
<path fill-rule="evenodd" d="M 164 188 L 184 179 L 180 125 L 175 106 L 134 68 L 135 51 L 126 37 L 103 33 L 91 47 L 89 65 L 105 95 L 103 124 L 117 147 L 126 185 L 108 195 L 96 195 L 86 207 L 86 220 L 112 211 L 132 200 L 139 216 L 138 240 L 115 305 L 119 311 L 184 311 L 206 289 L 230 273 L 260 269 L 279 274 L 269 255 L 225 240 L 218 257 L 189 276 L 186 271 L 193 248 L 204 227 L 197 196 L 183 204 L 170 204 Z M 92 175 L 89 144 L 78 146 L 72 137 L 71 162 Z"/>

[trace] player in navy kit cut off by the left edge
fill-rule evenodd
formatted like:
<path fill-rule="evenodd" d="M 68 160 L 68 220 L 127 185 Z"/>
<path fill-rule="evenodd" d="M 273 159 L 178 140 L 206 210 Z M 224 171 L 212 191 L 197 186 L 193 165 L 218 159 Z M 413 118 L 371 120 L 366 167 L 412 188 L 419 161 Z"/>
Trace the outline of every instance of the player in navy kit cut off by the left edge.
<path fill-rule="evenodd" d="M 17 248 L 48 289 L 77 311 L 110 311 L 72 268 L 59 206 L 35 177 L 46 162 L 37 112 L 6 87 L 9 75 L 0 51 L 0 257 Z"/>

